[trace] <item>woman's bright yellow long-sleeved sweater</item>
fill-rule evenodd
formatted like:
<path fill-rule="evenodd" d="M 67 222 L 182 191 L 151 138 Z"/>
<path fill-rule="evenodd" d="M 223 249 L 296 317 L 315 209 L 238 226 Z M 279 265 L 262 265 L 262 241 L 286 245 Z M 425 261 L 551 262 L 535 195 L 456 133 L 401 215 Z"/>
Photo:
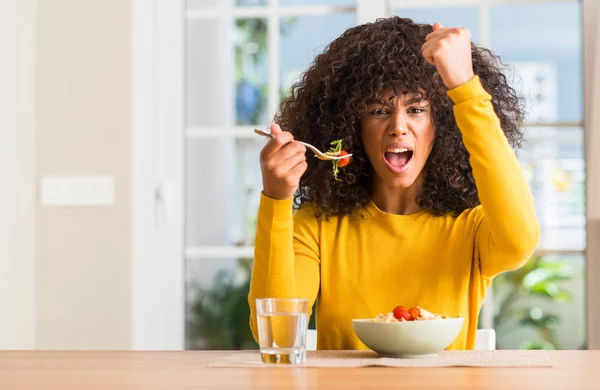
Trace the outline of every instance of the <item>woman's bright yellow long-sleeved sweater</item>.
<path fill-rule="evenodd" d="M 366 349 L 353 318 L 397 305 L 461 316 L 449 349 L 473 349 L 479 310 L 492 278 L 522 266 L 538 243 L 533 199 L 514 151 L 478 77 L 448 92 L 470 153 L 481 205 L 458 217 L 425 210 L 392 215 L 370 202 L 357 221 L 294 215 L 291 200 L 261 197 L 248 302 L 257 339 L 255 299 L 318 298 L 317 348 Z"/>

